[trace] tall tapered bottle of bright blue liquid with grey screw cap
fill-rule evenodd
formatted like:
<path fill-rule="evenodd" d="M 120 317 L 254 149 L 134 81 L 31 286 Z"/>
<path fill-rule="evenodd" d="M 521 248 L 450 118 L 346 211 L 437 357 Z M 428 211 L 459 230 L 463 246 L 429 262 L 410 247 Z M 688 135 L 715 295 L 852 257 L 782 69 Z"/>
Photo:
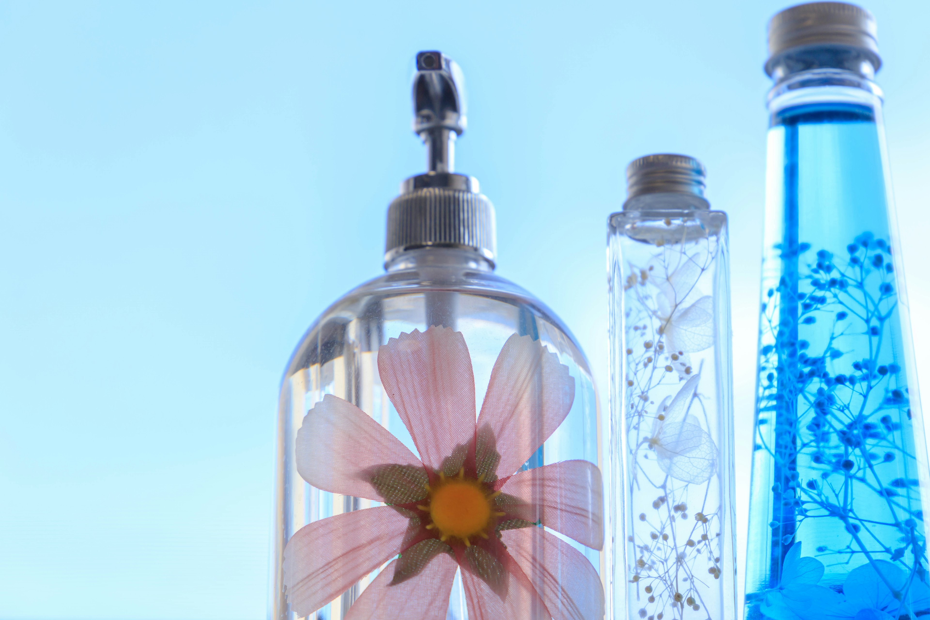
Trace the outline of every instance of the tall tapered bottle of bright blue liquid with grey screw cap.
<path fill-rule="evenodd" d="M 875 21 L 792 7 L 769 48 L 745 617 L 914 618 L 928 469 Z"/>

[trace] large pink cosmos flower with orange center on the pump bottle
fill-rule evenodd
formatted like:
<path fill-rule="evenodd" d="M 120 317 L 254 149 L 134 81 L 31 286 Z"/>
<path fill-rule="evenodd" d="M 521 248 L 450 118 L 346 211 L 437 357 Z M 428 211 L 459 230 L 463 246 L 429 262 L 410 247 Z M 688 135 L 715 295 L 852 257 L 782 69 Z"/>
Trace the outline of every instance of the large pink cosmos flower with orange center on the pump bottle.
<path fill-rule="evenodd" d="M 327 395 L 312 408 L 297 436 L 300 476 L 387 506 L 294 534 L 284 560 L 291 609 L 312 613 L 396 558 L 347 620 L 444 620 L 458 568 L 470 620 L 600 620 L 604 590 L 591 562 L 538 527 L 602 548 L 600 470 L 583 460 L 518 470 L 568 415 L 568 368 L 538 341 L 511 336 L 477 423 L 461 333 L 431 327 L 391 338 L 378 369 L 422 460 L 351 402 Z"/>

